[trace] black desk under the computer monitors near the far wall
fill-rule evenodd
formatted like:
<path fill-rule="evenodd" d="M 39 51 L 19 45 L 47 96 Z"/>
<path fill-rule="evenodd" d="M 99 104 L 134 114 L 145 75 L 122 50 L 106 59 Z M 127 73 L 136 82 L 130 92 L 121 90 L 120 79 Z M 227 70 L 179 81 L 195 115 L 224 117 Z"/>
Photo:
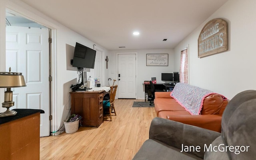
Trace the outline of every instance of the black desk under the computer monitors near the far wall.
<path fill-rule="evenodd" d="M 144 84 L 142 83 L 142 85 L 144 85 L 144 91 L 145 91 L 145 101 L 148 100 L 148 96 L 151 95 L 151 91 L 150 91 L 150 84 Z M 168 83 L 155 83 L 154 84 L 155 89 L 157 90 L 163 90 L 165 92 L 169 92 L 172 91 L 174 88 L 174 85 L 170 85 Z"/>

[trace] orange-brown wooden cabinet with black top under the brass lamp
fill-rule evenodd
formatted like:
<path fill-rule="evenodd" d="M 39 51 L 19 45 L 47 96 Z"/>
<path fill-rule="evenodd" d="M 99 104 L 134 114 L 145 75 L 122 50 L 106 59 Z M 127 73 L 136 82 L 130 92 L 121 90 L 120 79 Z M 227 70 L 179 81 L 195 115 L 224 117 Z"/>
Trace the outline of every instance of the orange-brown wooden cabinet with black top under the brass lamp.
<path fill-rule="evenodd" d="M 39 160 L 40 110 L 14 110 L 17 115 L 0 118 L 0 160 Z"/>

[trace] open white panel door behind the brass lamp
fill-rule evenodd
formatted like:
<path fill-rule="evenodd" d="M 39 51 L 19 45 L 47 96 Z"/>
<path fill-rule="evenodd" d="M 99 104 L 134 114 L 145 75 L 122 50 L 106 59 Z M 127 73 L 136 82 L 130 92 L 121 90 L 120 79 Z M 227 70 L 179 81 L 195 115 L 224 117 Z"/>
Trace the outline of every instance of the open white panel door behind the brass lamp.
<path fill-rule="evenodd" d="M 42 109 L 40 136 L 50 135 L 49 31 L 6 26 L 6 71 L 21 72 L 26 87 L 15 88 L 11 109 Z"/>

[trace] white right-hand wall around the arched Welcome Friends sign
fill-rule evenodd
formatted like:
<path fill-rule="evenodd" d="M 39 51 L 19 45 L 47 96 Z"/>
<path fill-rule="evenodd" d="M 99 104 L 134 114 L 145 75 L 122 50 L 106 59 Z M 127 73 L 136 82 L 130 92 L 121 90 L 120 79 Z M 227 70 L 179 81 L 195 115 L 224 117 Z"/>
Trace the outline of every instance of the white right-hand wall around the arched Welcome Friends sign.
<path fill-rule="evenodd" d="M 229 0 L 174 49 L 180 51 L 189 44 L 190 84 L 223 94 L 232 99 L 237 93 L 256 89 L 256 1 Z M 197 39 L 204 25 L 222 18 L 228 23 L 228 51 L 198 58 Z M 180 62 L 177 60 L 175 68 Z"/>

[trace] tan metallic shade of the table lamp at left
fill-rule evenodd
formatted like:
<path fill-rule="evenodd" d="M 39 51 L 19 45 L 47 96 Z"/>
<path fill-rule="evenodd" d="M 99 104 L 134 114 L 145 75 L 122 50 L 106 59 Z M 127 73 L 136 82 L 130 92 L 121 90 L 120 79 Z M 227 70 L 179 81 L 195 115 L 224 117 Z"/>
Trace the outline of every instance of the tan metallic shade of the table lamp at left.
<path fill-rule="evenodd" d="M 22 73 L 0 72 L 0 88 L 25 87 L 26 82 Z"/>

